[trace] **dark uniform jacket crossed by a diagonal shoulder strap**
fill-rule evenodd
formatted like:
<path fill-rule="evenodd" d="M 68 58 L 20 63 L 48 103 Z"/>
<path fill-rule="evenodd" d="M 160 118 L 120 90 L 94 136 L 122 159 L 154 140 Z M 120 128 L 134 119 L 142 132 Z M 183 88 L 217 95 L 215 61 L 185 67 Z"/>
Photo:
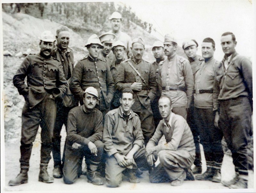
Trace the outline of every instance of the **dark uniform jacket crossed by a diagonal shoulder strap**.
<path fill-rule="evenodd" d="M 132 65 L 140 72 L 140 75 L 145 79 L 145 82 L 142 81 L 128 62 L 132 63 Z M 134 91 L 135 102 L 132 106 L 132 110 L 135 112 L 140 111 L 142 105 L 151 112 L 149 99 L 153 101 L 156 97 L 156 75 L 153 65 L 145 60 L 140 60 L 139 63 L 135 63 L 135 60 L 133 59 L 121 62 L 116 77 L 116 90 L 122 92 L 124 88 L 131 88 L 131 85 L 134 82 L 142 83 L 142 90 Z"/>

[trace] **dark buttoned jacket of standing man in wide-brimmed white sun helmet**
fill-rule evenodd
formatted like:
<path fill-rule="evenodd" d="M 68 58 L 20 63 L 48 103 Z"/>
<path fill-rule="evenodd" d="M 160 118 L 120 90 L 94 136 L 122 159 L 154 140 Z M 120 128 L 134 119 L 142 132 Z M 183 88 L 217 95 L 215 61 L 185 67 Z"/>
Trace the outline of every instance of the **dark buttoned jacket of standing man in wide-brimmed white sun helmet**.
<path fill-rule="evenodd" d="M 104 60 L 98 58 L 94 61 L 88 55 L 77 62 L 70 83 L 70 90 L 80 99 L 80 104 L 83 104 L 83 93 L 89 86 L 96 88 L 99 95 L 102 91 L 108 108 L 114 93 L 110 68 Z"/>

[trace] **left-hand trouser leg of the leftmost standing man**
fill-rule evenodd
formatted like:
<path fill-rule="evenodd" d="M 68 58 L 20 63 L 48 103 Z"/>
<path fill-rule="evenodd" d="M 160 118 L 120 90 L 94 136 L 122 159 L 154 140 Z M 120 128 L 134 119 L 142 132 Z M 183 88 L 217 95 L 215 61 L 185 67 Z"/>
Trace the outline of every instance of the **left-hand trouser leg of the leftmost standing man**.
<path fill-rule="evenodd" d="M 34 108 L 29 108 L 25 103 L 22 109 L 22 125 L 21 125 L 21 140 L 20 140 L 20 167 L 28 168 L 29 159 L 31 156 L 33 142 L 36 138 L 36 133 L 39 127 L 41 111 L 40 105 L 36 105 Z"/>

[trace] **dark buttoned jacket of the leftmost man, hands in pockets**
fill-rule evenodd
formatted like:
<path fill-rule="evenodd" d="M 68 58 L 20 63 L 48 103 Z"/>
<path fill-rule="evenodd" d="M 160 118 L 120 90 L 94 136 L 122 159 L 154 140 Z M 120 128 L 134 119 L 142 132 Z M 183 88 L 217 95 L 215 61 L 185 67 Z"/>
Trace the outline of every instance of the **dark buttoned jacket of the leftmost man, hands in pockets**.
<path fill-rule="evenodd" d="M 27 85 L 24 81 L 26 77 Z M 51 93 L 53 98 L 61 98 L 68 86 L 60 62 L 52 56 L 44 58 L 40 54 L 25 58 L 13 77 L 13 84 L 24 96 L 29 108 L 41 102 L 46 93 Z"/>

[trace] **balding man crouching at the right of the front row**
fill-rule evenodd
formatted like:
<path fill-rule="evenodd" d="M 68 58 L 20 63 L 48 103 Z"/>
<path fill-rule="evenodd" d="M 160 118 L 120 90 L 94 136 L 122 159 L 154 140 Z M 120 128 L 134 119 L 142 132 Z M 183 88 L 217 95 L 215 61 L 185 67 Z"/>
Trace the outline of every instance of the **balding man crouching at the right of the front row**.
<path fill-rule="evenodd" d="M 179 186 L 185 179 L 194 180 L 190 170 L 196 149 L 193 135 L 186 120 L 172 113 L 169 97 L 160 97 L 158 107 L 164 119 L 159 122 L 154 136 L 146 146 L 146 156 L 150 166 L 154 165 L 157 156 L 160 164 L 152 168 L 149 180 L 152 183 L 171 182 L 172 186 Z M 166 144 L 156 145 L 163 135 Z"/>

